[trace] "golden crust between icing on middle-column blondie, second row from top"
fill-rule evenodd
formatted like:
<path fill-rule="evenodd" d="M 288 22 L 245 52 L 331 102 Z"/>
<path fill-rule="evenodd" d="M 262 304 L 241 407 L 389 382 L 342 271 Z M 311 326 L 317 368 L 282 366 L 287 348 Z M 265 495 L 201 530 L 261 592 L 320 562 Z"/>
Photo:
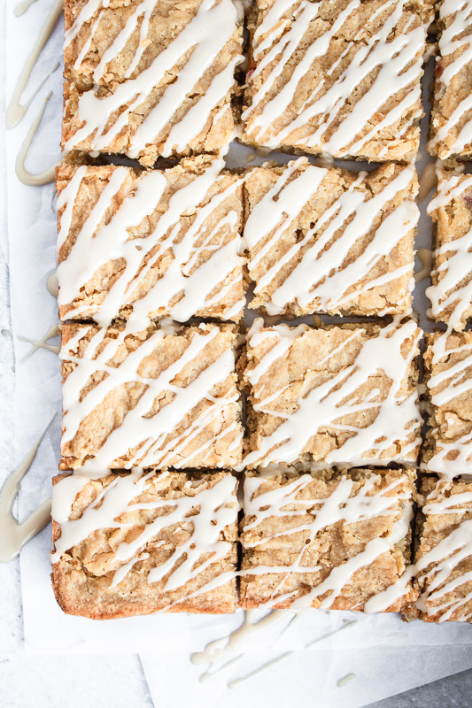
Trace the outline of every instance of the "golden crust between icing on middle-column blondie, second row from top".
<path fill-rule="evenodd" d="M 292 173 L 290 178 L 286 178 L 284 188 L 290 185 L 291 181 L 297 180 L 308 168 L 308 160 L 300 159 L 297 162 L 297 169 Z M 311 169 L 316 170 L 313 166 Z M 302 262 L 303 258 L 309 258 L 309 253 L 316 251 L 317 244 L 322 241 L 325 235 L 326 225 L 335 219 L 340 208 L 340 199 L 346 195 L 346 192 L 353 189 L 354 182 L 358 182 L 354 191 L 357 195 L 363 195 L 365 202 L 359 208 L 367 206 L 371 197 L 379 195 L 383 189 L 387 189 L 392 181 L 398 178 L 398 175 L 405 170 L 405 167 L 400 165 L 382 165 L 373 172 L 368 173 L 365 178 L 360 181 L 358 173 L 347 172 L 338 167 L 331 167 L 326 175 L 322 178 L 320 186 L 310 196 L 306 204 L 296 216 L 292 219 L 283 231 L 282 234 L 271 245 L 267 254 L 262 255 L 262 250 L 267 242 L 273 238 L 275 229 L 267 233 L 265 237 L 260 237 L 258 242 L 249 249 L 249 275 L 251 281 L 257 286 L 260 279 L 263 278 L 270 270 L 273 277 L 264 285 L 263 289 L 259 289 L 256 296 L 251 300 L 249 306 L 251 308 L 259 308 L 266 310 L 267 305 L 274 307 L 272 296 L 283 283 L 289 278 L 290 274 L 297 276 L 297 267 Z M 250 215 L 257 204 L 266 197 L 270 189 L 275 187 L 278 178 L 287 172 L 287 168 L 262 166 L 256 167 L 248 173 L 245 180 L 245 196 L 246 196 L 246 212 Z M 360 182 L 360 183 L 359 183 Z M 317 291 L 318 285 L 321 285 L 326 280 L 324 274 L 320 276 L 319 282 L 316 283 L 312 275 L 312 281 L 306 282 L 306 289 L 310 288 L 311 300 L 300 304 L 295 295 L 298 290 L 293 285 L 295 299 L 291 302 L 286 302 L 281 308 L 280 314 L 290 314 L 296 317 L 313 312 L 320 312 L 330 315 L 345 314 L 345 315 L 360 315 L 360 316 L 377 316 L 386 313 L 406 314 L 411 312 L 412 308 L 412 279 L 414 271 L 414 235 L 415 229 L 411 228 L 405 235 L 398 235 L 397 241 L 392 245 L 390 252 L 379 258 L 378 262 L 373 267 L 366 267 L 365 270 L 360 268 L 359 277 L 355 278 L 352 285 L 350 281 L 345 281 L 345 274 L 349 273 L 349 267 L 356 263 L 362 257 L 364 251 L 368 248 L 368 244 L 373 241 L 377 229 L 381 227 L 384 220 L 391 215 L 400 204 L 412 204 L 414 197 L 418 192 L 418 180 L 416 173 L 412 171 L 411 179 L 408 180 L 406 189 L 397 189 L 391 198 L 386 199 L 386 203 L 379 208 L 378 213 L 371 224 L 366 229 L 365 233 L 352 234 L 349 249 L 344 257 L 333 259 L 334 267 L 332 274 L 333 296 L 334 302 L 325 304 L 322 296 Z M 336 204 L 336 206 L 335 206 Z M 274 209 L 277 209 L 276 203 Z M 320 230 L 317 230 L 314 235 L 309 237 L 309 233 L 313 231 L 318 223 L 321 223 L 323 218 L 330 217 L 323 223 Z M 403 213 L 402 213 L 403 216 Z M 280 215 L 281 222 L 285 215 L 283 212 Z M 339 246 L 348 224 L 351 222 L 351 217 L 344 217 L 344 223 L 336 229 L 335 238 L 329 239 L 329 242 L 317 253 L 317 259 L 313 258 L 313 273 L 316 273 L 317 260 L 322 263 L 323 256 L 326 256 L 328 251 L 332 253 Z M 264 224 L 261 224 L 264 227 Z M 364 227 L 364 225 L 362 225 Z M 280 228 L 280 224 L 277 224 Z M 266 237 L 267 236 L 267 237 Z M 294 255 L 288 258 L 290 250 L 295 248 L 295 244 L 301 241 L 306 241 L 306 244 Z M 379 243 L 379 248 L 384 242 Z M 339 246 L 344 249 L 343 246 Z M 307 261 L 308 262 L 308 261 Z M 409 269 L 408 266 L 410 266 Z M 321 266 L 323 267 L 323 266 Z M 334 269 L 336 268 L 336 273 Z M 407 270 L 406 270 L 407 269 Z M 400 271 L 398 277 L 394 276 L 395 271 Z M 303 277 L 303 275 L 302 275 Z M 331 277 L 331 274 L 330 276 Z M 352 278 L 352 275 L 348 275 Z M 369 287 L 369 283 L 374 283 L 374 287 Z M 382 281 L 384 279 L 384 281 Z M 305 293 L 302 293 L 305 296 Z M 326 296 L 325 296 L 326 297 Z M 336 297 L 339 298 L 338 303 Z M 278 303 L 277 303 L 278 305 Z M 269 312 L 273 314 L 273 312 Z"/>

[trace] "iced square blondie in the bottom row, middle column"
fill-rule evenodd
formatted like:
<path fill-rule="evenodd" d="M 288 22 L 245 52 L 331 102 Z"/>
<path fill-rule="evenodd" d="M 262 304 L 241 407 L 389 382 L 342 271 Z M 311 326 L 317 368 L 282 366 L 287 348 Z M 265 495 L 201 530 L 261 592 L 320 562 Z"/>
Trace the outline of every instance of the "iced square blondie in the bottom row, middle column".
<path fill-rule="evenodd" d="M 241 604 L 398 612 L 411 580 L 384 598 L 410 560 L 413 496 L 400 470 L 246 473 Z"/>

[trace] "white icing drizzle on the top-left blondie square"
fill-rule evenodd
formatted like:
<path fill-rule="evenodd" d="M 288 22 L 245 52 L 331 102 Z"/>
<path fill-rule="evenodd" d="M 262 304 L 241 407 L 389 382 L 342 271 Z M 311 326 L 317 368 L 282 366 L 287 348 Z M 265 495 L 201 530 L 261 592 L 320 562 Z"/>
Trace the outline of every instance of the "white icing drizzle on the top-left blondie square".
<path fill-rule="evenodd" d="M 81 32 L 84 25 L 89 24 L 90 19 L 99 8 L 105 8 L 108 4 L 104 0 L 102 2 L 93 0 L 93 2 L 85 4 L 73 27 L 66 31 L 65 47 Z M 66 151 L 81 148 L 83 141 L 90 141 L 89 150 L 112 150 L 112 142 L 127 126 L 130 115 L 139 113 L 140 106 L 149 98 L 152 89 L 158 86 L 165 78 L 166 73 L 171 73 L 173 67 L 189 53 L 190 56 L 176 75 L 175 81 L 166 87 L 158 104 L 151 109 L 148 115 L 143 117 L 143 122 L 135 134 L 130 137 L 126 154 L 130 158 L 139 158 L 147 145 L 155 142 L 159 136 L 163 136 L 165 133 L 166 142 L 161 154 L 164 157 L 169 157 L 175 151 L 182 151 L 204 130 L 208 120 L 211 119 L 213 110 L 222 103 L 228 102 L 228 94 L 234 84 L 234 69 L 236 64 L 242 60 L 242 57 L 239 56 L 228 60 L 228 65 L 213 77 L 210 86 L 205 90 L 205 95 L 200 96 L 196 103 L 191 104 L 182 117 L 174 123 L 174 126 L 168 129 L 169 122 L 174 121 L 179 112 L 182 112 L 182 105 L 195 90 L 197 82 L 208 71 L 236 32 L 237 11 L 235 5 L 231 0 L 220 0 L 220 2 L 202 0 L 197 13 L 183 27 L 182 32 L 176 35 L 166 49 L 154 58 L 150 66 L 134 75 L 143 57 L 143 52 L 148 46 L 146 32 L 155 7 L 156 0 L 142 0 L 141 3 L 136 4 L 135 12 L 129 16 L 126 26 L 104 52 L 103 58 L 94 72 L 94 81 L 97 85 L 103 81 L 107 65 L 124 49 L 128 38 L 135 32 L 138 23 L 142 20 L 141 41 L 137 43 L 135 56 L 128 66 L 128 80 L 120 83 L 107 96 L 97 96 L 95 90 L 81 94 L 78 119 L 83 122 L 83 125 L 67 140 L 64 146 Z M 92 33 L 90 42 L 98 20 L 99 18 L 90 28 Z M 83 59 L 86 59 L 87 50 L 82 54 Z M 123 106 L 126 106 L 125 110 L 120 112 L 119 117 L 113 119 L 110 125 L 112 116 Z M 224 112 L 230 111 L 229 105 L 223 107 Z M 220 119 L 221 115 L 219 112 Z M 215 122 L 216 120 L 213 120 L 213 127 Z"/>

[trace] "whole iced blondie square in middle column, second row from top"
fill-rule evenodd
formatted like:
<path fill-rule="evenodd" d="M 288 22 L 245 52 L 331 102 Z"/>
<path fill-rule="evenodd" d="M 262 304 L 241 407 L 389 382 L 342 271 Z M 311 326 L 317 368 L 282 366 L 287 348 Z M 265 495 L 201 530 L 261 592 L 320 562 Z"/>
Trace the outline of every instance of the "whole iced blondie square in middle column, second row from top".
<path fill-rule="evenodd" d="M 417 192 L 414 168 L 392 163 L 371 173 L 306 158 L 254 168 L 245 181 L 249 306 L 269 315 L 410 313 Z"/>

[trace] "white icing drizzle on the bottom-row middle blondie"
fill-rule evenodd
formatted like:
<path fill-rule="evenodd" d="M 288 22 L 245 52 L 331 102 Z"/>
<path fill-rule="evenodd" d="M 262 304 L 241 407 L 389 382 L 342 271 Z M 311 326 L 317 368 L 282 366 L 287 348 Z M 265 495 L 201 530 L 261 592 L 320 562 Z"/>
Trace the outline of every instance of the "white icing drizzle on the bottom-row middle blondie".
<path fill-rule="evenodd" d="M 408 534 L 410 521 L 413 518 L 411 494 L 407 490 L 397 489 L 405 483 L 404 478 L 398 478 L 387 487 L 375 490 L 378 475 L 372 473 L 356 490 L 352 479 L 342 477 L 329 496 L 317 499 L 309 498 L 305 491 L 313 481 L 310 474 L 303 474 L 293 481 L 275 487 L 275 489 L 259 492 L 260 487 L 263 486 L 270 474 L 271 472 L 259 473 L 257 477 L 246 477 L 244 480 L 245 519 L 253 517 L 254 520 L 246 522 L 244 519 L 243 548 L 257 548 L 267 543 L 267 536 L 264 535 L 263 528 L 259 534 L 255 532 L 254 541 L 250 542 L 244 539 L 244 533 L 258 529 L 264 519 L 288 516 L 291 519 L 302 515 L 306 517 L 306 514 L 310 514 L 312 519 L 292 527 L 282 527 L 280 533 L 270 536 L 271 538 L 286 538 L 290 534 L 298 534 L 300 531 L 309 532 L 306 544 L 290 566 L 255 566 L 242 571 L 246 575 L 283 574 L 282 580 L 277 583 L 267 601 L 269 605 L 277 604 L 283 598 L 285 601 L 287 599 L 293 601 L 292 607 L 309 607 L 313 601 L 326 595 L 321 599 L 320 607 L 321 609 L 329 609 L 336 602 L 337 597 L 342 594 L 344 586 L 351 580 L 353 573 L 363 566 L 371 565 L 376 558 L 389 552 Z M 403 509 L 402 502 L 405 503 Z M 300 508 L 296 510 L 296 507 Z M 389 535 L 369 541 L 364 550 L 347 559 L 343 564 L 334 567 L 329 575 L 309 590 L 306 595 L 298 596 L 299 589 L 283 593 L 285 581 L 292 573 L 322 572 L 322 566 L 314 568 L 306 566 L 304 558 L 306 551 L 310 549 L 322 529 L 335 526 L 339 522 L 349 525 L 381 516 L 395 519 Z"/>

